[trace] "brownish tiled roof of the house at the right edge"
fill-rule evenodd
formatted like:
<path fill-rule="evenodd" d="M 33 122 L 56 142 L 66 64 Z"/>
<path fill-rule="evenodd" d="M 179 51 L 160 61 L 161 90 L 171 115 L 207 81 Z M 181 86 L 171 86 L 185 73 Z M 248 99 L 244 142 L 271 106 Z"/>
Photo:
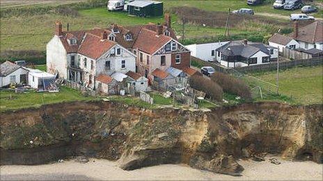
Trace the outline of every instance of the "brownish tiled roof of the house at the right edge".
<path fill-rule="evenodd" d="M 291 33 L 290 36 L 293 36 L 294 33 Z M 308 43 L 322 43 L 323 42 L 323 21 L 315 21 L 311 24 L 308 24 L 304 27 L 299 28 L 299 33 L 295 40 Z"/>

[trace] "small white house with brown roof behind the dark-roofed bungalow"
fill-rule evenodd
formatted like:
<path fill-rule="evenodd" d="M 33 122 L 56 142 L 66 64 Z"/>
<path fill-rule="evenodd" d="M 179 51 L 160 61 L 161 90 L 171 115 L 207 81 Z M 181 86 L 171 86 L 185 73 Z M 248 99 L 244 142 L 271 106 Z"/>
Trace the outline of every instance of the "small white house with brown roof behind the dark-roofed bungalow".
<path fill-rule="evenodd" d="M 287 37 L 277 33 L 269 38 L 268 44 L 269 46 L 277 48 L 279 52 L 283 52 L 283 48 L 299 49 L 299 42 L 294 40 L 292 37 Z"/>

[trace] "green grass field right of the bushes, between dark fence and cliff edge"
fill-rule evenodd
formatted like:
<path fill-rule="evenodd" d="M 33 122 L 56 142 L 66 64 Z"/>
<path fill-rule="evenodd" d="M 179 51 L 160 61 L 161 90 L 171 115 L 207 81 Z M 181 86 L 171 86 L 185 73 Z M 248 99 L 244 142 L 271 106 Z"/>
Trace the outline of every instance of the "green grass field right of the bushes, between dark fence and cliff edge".
<path fill-rule="evenodd" d="M 269 83 L 276 84 L 276 71 L 251 74 Z M 279 74 L 279 93 L 287 102 L 311 104 L 323 102 L 323 67 L 296 67 Z M 269 99 L 275 100 L 274 96 Z"/>

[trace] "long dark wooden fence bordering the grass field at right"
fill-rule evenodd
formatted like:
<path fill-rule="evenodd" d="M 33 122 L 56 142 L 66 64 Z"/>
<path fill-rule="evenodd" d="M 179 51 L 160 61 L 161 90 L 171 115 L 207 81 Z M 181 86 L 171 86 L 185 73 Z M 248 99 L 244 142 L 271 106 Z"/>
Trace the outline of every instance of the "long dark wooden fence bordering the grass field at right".
<path fill-rule="evenodd" d="M 269 64 L 256 64 L 252 66 L 247 67 L 235 67 L 235 70 L 228 67 L 223 67 L 219 64 L 210 63 L 204 60 L 200 60 L 198 58 L 192 57 L 193 61 L 198 62 L 198 64 L 203 64 L 203 66 L 210 66 L 215 69 L 215 71 L 223 72 L 223 73 L 232 73 L 233 71 L 237 70 L 240 72 L 254 72 L 254 71 L 271 71 L 277 69 L 277 63 L 271 62 Z M 297 66 L 315 66 L 323 64 L 323 57 L 317 57 L 317 58 L 309 58 L 304 60 L 291 60 L 291 61 L 285 61 L 285 62 L 279 62 L 279 69 L 290 69 L 292 67 Z"/>

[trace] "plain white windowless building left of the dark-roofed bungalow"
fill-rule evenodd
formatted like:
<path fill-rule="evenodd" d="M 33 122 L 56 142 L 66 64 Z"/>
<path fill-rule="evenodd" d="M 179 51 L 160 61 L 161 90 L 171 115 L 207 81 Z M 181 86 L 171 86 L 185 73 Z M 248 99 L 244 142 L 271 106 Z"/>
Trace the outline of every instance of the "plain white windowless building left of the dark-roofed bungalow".
<path fill-rule="evenodd" d="M 201 60 L 214 62 L 216 59 L 215 50 L 224 44 L 228 44 L 228 42 L 213 42 L 207 44 L 189 44 L 185 46 L 189 51 L 191 51 L 191 55 L 200 58 Z"/>

